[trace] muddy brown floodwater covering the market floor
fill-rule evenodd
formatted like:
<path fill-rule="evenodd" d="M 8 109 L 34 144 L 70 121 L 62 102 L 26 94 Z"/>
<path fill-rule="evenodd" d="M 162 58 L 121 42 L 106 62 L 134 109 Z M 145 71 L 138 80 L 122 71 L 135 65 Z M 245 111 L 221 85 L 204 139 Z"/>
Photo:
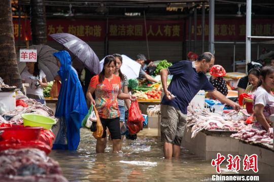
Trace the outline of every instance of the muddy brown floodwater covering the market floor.
<path fill-rule="evenodd" d="M 156 132 L 144 128 L 136 141 L 124 139 L 123 153 L 112 153 L 109 141 L 106 153 L 96 154 L 96 140 L 81 129 L 77 151 L 54 150 L 50 157 L 59 162 L 69 181 L 211 181 L 215 168 L 187 150 L 182 150 L 179 161 L 164 160 Z"/>

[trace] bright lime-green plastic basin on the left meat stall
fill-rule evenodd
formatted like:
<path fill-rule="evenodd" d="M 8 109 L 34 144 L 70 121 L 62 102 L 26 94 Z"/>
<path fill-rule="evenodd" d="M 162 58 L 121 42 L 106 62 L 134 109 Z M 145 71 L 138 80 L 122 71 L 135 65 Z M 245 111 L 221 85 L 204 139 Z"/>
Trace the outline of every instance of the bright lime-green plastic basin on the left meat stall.
<path fill-rule="evenodd" d="M 53 124 L 56 124 L 56 120 L 50 117 L 42 116 L 39 114 L 22 114 L 24 126 L 40 126 L 44 129 L 51 129 Z"/>

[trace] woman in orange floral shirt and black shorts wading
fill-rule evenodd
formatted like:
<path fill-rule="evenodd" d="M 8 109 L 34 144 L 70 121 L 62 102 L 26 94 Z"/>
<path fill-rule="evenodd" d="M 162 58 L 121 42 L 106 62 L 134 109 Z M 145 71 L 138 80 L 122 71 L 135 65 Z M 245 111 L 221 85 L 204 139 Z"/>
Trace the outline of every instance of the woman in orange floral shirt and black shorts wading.
<path fill-rule="evenodd" d="M 135 96 L 121 92 L 121 80 L 114 75 L 116 59 L 107 56 L 104 61 L 104 68 L 99 75 L 93 76 L 90 80 L 86 97 L 91 104 L 95 104 L 98 115 L 101 119 L 104 133 L 101 139 L 97 139 L 96 152 L 104 153 L 107 139 L 106 129 L 108 127 L 113 140 L 113 152 L 121 151 L 120 112 L 117 99 L 136 100 Z M 95 92 L 95 100 L 92 94 Z"/>

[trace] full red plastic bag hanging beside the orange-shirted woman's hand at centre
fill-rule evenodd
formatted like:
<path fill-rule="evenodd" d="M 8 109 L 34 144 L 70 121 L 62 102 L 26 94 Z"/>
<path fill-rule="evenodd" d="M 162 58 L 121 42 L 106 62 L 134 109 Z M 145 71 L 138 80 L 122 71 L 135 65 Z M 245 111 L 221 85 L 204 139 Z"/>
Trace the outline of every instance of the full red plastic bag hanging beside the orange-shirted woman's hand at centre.
<path fill-rule="evenodd" d="M 131 103 L 128 110 L 127 127 L 130 134 L 136 134 L 143 129 L 143 122 L 145 118 L 139 108 L 137 101 Z"/>

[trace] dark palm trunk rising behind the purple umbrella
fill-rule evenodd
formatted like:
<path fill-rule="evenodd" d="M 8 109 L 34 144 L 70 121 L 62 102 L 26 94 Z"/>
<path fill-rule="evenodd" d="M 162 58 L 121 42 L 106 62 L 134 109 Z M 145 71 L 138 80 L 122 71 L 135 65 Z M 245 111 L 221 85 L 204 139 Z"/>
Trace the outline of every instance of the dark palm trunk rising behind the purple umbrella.
<path fill-rule="evenodd" d="M 44 0 L 30 0 L 32 44 L 47 43 L 46 7 Z"/>

